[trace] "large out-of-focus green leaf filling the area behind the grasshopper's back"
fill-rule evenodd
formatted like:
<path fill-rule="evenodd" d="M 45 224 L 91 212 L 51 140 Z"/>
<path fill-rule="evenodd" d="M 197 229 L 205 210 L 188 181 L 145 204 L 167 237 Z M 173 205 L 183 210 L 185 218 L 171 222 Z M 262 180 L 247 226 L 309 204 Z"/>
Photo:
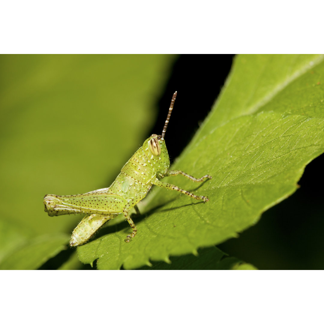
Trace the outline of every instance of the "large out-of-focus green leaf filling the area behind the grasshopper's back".
<path fill-rule="evenodd" d="M 81 216 L 48 217 L 44 195 L 110 184 L 147 136 L 174 59 L 1 55 L 0 220 L 29 238 L 71 233 Z M 9 234 L 2 241 L 15 245 Z"/>

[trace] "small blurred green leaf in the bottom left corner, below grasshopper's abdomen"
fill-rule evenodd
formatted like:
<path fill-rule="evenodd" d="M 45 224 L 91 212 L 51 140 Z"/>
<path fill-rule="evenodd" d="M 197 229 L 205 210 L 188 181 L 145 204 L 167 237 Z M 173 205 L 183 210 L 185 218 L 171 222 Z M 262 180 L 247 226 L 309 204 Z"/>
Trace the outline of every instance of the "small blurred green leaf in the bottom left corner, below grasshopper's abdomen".
<path fill-rule="evenodd" d="M 7 255 L 0 270 L 35 270 L 59 252 L 67 249 L 67 234 L 42 235 L 30 239 L 23 247 Z"/>

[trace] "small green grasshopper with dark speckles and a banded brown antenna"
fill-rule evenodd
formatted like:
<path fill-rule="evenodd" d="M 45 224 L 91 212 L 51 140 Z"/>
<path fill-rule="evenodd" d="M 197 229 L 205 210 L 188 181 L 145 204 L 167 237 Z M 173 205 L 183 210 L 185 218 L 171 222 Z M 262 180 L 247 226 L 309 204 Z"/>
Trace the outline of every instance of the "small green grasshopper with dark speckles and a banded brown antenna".
<path fill-rule="evenodd" d="M 75 227 L 70 240 L 70 246 L 84 244 L 108 220 L 118 214 L 124 214 L 133 232 L 127 235 L 125 242 L 130 242 L 137 233 L 137 228 L 128 214 L 148 193 L 152 185 L 165 189 L 177 190 L 194 199 L 208 202 L 208 197 L 196 196 L 172 184 L 161 182 L 160 179 L 169 176 L 182 176 L 201 182 L 212 179 L 208 174 L 197 179 L 179 170 L 169 170 L 170 160 L 165 145 L 164 135 L 173 109 L 177 91 L 173 94 L 167 120 L 162 135 L 151 135 L 121 169 L 121 173 L 109 188 L 90 191 L 81 195 L 57 196 L 45 195 L 45 212 L 49 216 L 58 216 L 74 213 L 86 213 L 86 216 Z"/>

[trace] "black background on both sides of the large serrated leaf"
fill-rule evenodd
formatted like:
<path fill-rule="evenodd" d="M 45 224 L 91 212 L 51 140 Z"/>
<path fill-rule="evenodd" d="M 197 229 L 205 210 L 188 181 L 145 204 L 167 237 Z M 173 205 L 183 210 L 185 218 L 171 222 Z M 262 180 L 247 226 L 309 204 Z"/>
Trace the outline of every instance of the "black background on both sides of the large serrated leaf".
<path fill-rule="evenodd" d="M 182 55 L 161 90 L 156 125 L 162 132 L 174 91 L 175 108 L 166 134 L 170 158 L 179 156 L 207 116 L 230 71 L 233 55 Z M 197 96 L 197 93 L 199 96 Z M 194 94 L 194 95 L 193 95 Z M 183 109 L 185 107 L 185 111 Z M 300 188 L 266 211 L 261 220 L 218 247 L 259 269 L 324 269 L 323 156 L 307 165 Z"/>

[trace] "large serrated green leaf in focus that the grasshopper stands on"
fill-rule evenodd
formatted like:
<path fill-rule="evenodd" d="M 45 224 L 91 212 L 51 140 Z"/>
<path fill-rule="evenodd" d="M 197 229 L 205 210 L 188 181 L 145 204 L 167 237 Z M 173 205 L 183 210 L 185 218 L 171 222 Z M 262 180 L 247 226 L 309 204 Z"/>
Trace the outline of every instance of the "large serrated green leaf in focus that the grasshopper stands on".
<path fill-rule="evenodd" d="M 180 176 L 167 180 L 209 196 L 209 202 L 155 188 L 139 204 L 143 215 L 133 217 L 138 234 L 131 243 L 124 242 L 131 229 L 120 218 L 79 247 L 79 259 L 98 259 L 98 269 L 168 262 L 170 255 L 237 237 L 291 195 L 307 163 L 324 151 L 323 60 L 322 55 L 238 56 L 213 110 L 172 166 L 213 179 L 199 185 Z"/>

